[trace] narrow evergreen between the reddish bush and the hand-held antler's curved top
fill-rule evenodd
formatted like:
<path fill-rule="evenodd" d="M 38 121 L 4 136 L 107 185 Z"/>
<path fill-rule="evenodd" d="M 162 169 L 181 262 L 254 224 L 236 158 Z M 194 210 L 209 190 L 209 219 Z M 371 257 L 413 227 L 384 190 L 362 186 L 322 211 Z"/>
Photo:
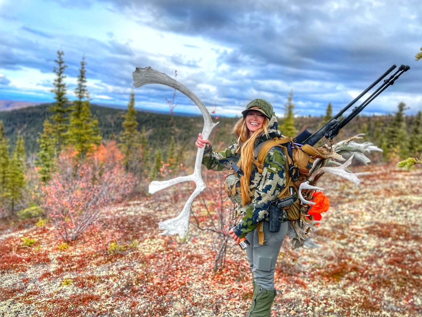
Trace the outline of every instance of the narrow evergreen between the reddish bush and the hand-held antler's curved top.
<path fill-rule="evenodd" d="M 135 110 L 135 93 L 130 93 L 129 103 L 127 104 L 127 112 L 122 115 L 124 121 L 122 123 L 123 132 L 120 137 L 120 148 L 124 153 L 124 164 L 128 172 L 136 172 L 139 165 L 139 146 L 141 145 L 141 134 L 137 130 L 138 122 L 136 121 Z"/>

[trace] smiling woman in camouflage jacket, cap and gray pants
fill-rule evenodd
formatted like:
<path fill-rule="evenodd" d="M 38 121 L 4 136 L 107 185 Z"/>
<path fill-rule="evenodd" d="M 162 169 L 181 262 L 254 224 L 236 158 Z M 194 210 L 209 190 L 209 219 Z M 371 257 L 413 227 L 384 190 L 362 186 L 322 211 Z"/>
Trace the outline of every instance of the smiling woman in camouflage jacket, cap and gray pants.
<path fill-rule="evenodd" d="M 268 210 L 271 202 L 277 199 L 284 188 L 286 156 L 281 148 L 272 148 L 260 174 L 252 161 L 257 156 L 258 145 L 281 136 L 277 118 L 271 104 L 264 99 L 251 101 L 242 115 L 233 133 L 237 143 L 228 149 L 219 153 L 212 152 L 210 142 L 202 139 L 202 134 L 199 134 L 195 144 L 198 148 L 206 145 L 202 164 L 208 169 L 229 170 L 234 163 L 243 171 L 240 176 L 242 202 L 236 207 L 243 218 L 229 234 L 237 243 L 243 237 L 250 243 L 246 255 L 253 273 L 254 295 L 246 316 L 271 316 L 271 304 L 276 296 L 274 268 L 281 243 L 287 234 L 287 216 L 283 211 L 280 231 L 270 232 Z M 262 244 L 259 243 L 259 231 L 264 233 Z"/>

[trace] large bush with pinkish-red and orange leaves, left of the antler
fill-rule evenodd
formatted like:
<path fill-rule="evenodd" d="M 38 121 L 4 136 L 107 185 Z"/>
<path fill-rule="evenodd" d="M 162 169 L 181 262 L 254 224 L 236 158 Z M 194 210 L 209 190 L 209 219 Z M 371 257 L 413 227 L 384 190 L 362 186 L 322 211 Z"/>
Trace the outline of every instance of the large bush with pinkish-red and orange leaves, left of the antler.
<path fill-rule="evenodd" d="M 100 145 L 82 163 L 74 158 L 71 148 L 62 153 L 58 171 L 41 188 L 41 207 L 66 241 L 75 240 L 100 208 L 127 196 L 135 184 L 133 176 L 124 171 L 115 142 Z"/>

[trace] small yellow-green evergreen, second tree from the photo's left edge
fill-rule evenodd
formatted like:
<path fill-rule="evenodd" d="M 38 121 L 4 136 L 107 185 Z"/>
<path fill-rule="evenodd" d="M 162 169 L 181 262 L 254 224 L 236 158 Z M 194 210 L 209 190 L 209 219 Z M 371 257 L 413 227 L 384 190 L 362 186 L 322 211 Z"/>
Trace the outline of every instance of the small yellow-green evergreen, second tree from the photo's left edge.
<path fill-rule="evenodd" d="M 10 164 L 10 182 L 9 192 L 12 204 L 12 213 L 14 213 L 15 204 L 17 201 L 22 199 L 22 190 L 25 187 L 25 148 L 24 139 L 21 135 L 18 135 L 16 141 L 16 147 L 12 154 Z"/>

